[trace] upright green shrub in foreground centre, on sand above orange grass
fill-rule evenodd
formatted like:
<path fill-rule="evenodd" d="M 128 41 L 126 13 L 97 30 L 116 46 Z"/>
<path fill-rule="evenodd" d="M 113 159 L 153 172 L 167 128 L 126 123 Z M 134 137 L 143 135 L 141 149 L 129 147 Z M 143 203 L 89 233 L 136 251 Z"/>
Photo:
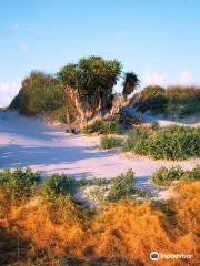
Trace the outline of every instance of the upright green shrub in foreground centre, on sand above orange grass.
<path fill-rule="evenodd" d="M 134 190 L 134 173 L 129 170 L 119 176 L 111 178 L 108 201 L 116 202 L 123 197 L 131 196 Z"/>

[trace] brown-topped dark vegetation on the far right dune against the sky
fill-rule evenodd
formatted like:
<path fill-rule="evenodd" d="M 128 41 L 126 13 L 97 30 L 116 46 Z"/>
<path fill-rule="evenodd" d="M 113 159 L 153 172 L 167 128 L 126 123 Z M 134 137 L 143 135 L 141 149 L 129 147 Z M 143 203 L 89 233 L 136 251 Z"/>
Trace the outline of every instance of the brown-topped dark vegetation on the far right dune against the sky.
<path fill-rule="evenodd" d="M 200 88 L 172 85 L 167 89 L 149 85 L 140 93 L 136 108 L 153 114 L 186 116 L 200 114 Z"/>

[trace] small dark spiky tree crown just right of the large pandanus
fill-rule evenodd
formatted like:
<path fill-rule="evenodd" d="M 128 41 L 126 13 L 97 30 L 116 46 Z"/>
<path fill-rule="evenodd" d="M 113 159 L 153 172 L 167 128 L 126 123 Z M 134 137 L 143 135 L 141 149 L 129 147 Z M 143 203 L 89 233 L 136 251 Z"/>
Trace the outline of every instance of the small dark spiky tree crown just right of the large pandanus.
<path fill-rule="evenodd" d="M 137 86 L 140 84 L 140 80 L 138 75 L 133 72 L 124 73 L 123 78 L 123 96 L 127 99 L 129 94 L 131 94 Z"/>

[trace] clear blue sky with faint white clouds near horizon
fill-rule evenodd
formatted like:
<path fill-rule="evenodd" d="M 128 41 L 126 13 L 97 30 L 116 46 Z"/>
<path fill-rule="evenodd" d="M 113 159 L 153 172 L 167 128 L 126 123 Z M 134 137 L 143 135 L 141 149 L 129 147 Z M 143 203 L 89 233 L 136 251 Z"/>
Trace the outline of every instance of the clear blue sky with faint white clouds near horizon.
<path fill-rule="evenodd" d="M 199 0 L 0 0 L 0 106 L 31 70 L 91 54 L 118 59 L 141 86 L 200 84 L 199 14 Z"/>

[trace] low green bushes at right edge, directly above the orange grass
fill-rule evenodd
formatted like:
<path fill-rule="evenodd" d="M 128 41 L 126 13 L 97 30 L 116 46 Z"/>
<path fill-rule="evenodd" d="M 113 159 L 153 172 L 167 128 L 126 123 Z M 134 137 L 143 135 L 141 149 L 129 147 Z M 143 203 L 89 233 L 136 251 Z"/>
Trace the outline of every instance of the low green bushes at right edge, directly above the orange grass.
<path fill-rule="evenodd" d="M 158 186 L 169 185 L 172 181 L 200 180 L 200 166 L 197 165 L 191 171 L 183 171 L 179 165 L 170 168 L 161 167 L 153 173 L 151 180 Z"/>

